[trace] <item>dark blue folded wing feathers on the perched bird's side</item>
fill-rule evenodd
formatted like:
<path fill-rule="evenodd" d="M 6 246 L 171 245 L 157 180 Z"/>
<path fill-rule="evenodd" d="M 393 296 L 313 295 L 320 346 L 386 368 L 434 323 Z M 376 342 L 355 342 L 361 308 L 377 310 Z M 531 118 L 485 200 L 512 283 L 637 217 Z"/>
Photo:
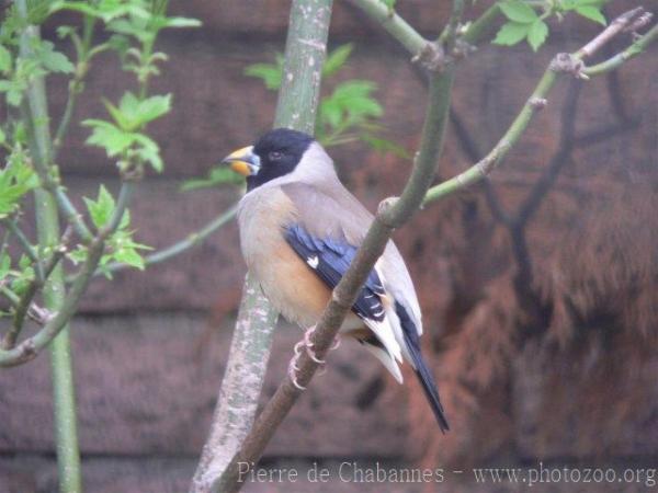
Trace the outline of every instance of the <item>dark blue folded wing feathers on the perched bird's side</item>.
<path fill-rule="evenodd" d="M 297 255 L 330 289 L 340 282 L 356 255 L 356 246 L 349 244 L 344 239 L 317 238 L 298 223 L 285 228 L 284 237 Z M 352 306 L 352 311 L 362 319 L 381 322 L 384 320 L 385 310 L 379 297 L 384 294 L 379 276 L 372 270 Z"/>

